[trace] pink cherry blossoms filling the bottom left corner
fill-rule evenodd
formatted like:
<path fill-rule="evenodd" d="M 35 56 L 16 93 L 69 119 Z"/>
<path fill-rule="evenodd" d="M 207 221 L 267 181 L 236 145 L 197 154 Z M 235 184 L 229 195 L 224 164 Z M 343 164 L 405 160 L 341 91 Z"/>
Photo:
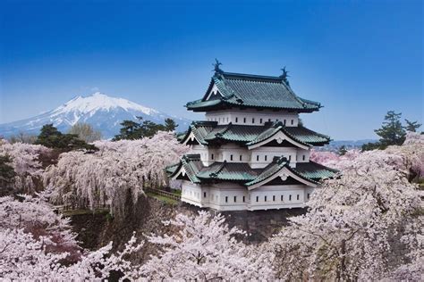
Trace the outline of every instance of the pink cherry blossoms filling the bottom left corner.
<path fill-rule="evenodd" d="M 112 270 L 131 273 L 124 257 L 140 250 L 135 237 L 123 252 L 110 253 L 112 242 L 95 252 L 81 252 L 69 220 L 38 198 L 0 198 L 0 277 L 6 280 L 106 279 Z M 125 276 L 123 278 L 126 278 Z"/>

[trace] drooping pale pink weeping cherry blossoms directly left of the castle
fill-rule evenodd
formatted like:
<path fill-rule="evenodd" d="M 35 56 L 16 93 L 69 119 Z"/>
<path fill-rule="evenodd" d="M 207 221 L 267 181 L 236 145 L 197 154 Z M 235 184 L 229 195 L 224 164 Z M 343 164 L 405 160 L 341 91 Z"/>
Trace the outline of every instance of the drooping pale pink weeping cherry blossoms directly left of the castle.
<path fill-rule="evenodd" d="M 44 183 L 55 188 L 55 203 L 90 209 L 110 204 L 114 214 L 123 215 L 128 200 L 136 203 L 143 187 L 165 186 L 165 166 L 188 150 L 163 131 L 151 138 L 95 145 L 96 153 L 62 153 L 46 170 Z"/>

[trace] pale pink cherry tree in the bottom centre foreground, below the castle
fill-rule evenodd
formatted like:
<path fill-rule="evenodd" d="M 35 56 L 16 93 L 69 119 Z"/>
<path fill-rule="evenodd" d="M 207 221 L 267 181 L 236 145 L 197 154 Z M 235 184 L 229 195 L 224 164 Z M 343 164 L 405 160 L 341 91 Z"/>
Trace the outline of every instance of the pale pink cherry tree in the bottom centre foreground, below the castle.
<path fill-rule="evenodd" d="M 172 235 L 148 236 L 160 247 L 140 269 L 142 278 L 153 280 L 269 280 L 273 270 L 265 255 L 236 239 L 246 236 L 228 228 L 223 215 L 199 211 L 198 216 L 178 214 L 165 225 L 177 228 Z"/>

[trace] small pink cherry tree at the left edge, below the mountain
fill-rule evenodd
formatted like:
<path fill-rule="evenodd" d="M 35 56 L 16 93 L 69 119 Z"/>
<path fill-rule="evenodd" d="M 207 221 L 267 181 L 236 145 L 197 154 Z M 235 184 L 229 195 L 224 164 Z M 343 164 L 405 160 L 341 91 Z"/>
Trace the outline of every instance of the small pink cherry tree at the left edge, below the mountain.
<path fill-rule="evenodd" d="M 35 192 L 37 183 L 40 182 L 43 174 L 38 158 L 40 154 L 50 153 L 50 151 L 43 145 L 10 144 L 5 140 L 0 140 L 0 155 L 8 155 L 11 158 L 11 164 L 16 173 L 13 181 L 15 193 L 32 194 Z"/>

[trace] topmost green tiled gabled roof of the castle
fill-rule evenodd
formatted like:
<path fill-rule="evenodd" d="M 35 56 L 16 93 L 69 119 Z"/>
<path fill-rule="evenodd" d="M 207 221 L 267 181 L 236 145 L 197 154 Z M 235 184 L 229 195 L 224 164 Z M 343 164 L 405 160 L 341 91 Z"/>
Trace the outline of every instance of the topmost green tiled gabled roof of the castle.
<path fill-rule="evenodd" d="M 216 86 L 218 95 L 209 95 Z M 217 71 L 202 99 L 189 102 L 186 107 L 194 112 L 205 112 L 233 106 L 280 109 L 294 112 L 318 111 L 318 102 L 294 94 L 281 77 L 268 77 Z"/>

